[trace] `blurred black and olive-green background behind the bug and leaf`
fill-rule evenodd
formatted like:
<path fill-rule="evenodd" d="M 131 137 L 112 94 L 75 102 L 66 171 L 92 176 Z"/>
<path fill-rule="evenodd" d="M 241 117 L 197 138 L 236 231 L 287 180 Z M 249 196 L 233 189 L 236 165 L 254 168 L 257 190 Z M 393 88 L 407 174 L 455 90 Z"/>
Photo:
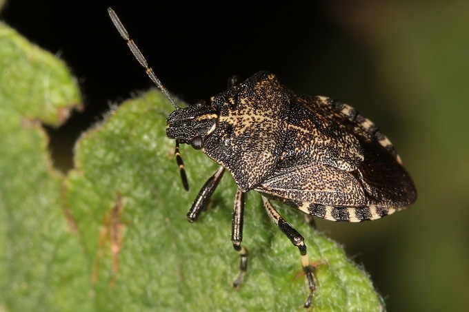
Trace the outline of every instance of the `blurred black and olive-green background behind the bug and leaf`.
<path fill-rule="evenodd" d="M 185 101 L 208 100 L 231 75 L 268 70 L 292 90 L 335 97 L 377 123 L 415 178 L 417 204 L 361 225 L 319 221 L 319 229 L 363 264 L 388 311 L 468 307 L 464 1 L 9 1 L 0 18 L 66 61 L 83 92 L 83 112 L 46 126 L 63 171 L 72 167 L 74 142 L 110 103 L 153 87 L 108 6 L 163 84 Z"/>

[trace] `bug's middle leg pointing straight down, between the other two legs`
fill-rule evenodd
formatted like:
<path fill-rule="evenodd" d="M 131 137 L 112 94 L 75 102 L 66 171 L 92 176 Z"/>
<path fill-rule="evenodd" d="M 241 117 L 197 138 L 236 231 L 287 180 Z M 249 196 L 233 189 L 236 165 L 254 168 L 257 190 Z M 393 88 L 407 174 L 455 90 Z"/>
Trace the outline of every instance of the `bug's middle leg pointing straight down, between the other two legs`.
<path fill-rule="evenodd" d="M 241 262 L 239 263 L 239 274 L 233 282 L 233 287 L 237 288 L 243 279 L 243 275 L 248 269 L 248 249 L 241 246 L 243 241 L 243 218 L 244 218 L 244 192 L 238 189 L 234 197 L 233 220 L 231 226 L 231 241 L 233 248 L 239 253 Z"/>

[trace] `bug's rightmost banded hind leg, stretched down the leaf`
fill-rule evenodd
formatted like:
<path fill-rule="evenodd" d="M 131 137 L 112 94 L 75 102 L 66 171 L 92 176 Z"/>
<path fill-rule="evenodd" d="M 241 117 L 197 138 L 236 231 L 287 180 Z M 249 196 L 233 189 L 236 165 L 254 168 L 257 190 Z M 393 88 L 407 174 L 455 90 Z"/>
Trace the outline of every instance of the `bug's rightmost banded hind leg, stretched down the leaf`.
<path fill-rule="evenodd" d="M 309 308 L 312 301 L 312 295 L 316 289 L 315 277 L 312 275 L 312 265 L 310 264 L 310 260 L 308 258 L 308 252 L 306 251 L 306 245 L 304 244 L 304 238 L 301 236 L 300 233 L 296 229 L 293 229 L 291 225 L 284 220 L 280 214 L 275 210 L 272 206 L 268 198 L 262 196 L 262 200 L 264 203 L 264 208 L 267 211 L 267 214 L 270 216 L 272 221 L 274 221 L 275 225 L 279 227 L 279 229 L 285 234 L 293 245 L 298 247 L 299 253 L 301 256 L 301 265 L 303 266 L 303 272 L 306 275 L 306 280 L 308 282 L 308 288 L 310 289 L 310 294 L 308 295 L 308 299 L 304 304 L 305 308 Z"/>

